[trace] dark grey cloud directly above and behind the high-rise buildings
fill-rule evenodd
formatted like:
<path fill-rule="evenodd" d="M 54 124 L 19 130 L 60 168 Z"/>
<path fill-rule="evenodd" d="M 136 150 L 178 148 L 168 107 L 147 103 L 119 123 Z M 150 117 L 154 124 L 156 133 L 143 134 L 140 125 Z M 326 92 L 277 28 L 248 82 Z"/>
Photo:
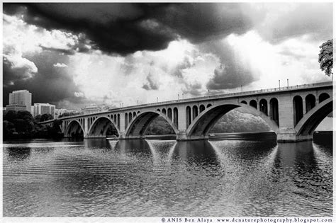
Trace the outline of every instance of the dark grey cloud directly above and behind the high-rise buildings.
<path fill-rule="evenodd" d="M 55 51 L 43 51 L 36 55 L 23 55 L 38 67 L 38 72 L 29 79 L 16 79 L 12 69 L 4 66 L 6 81 L 13 84 L 3 86 L 4 105 L 8 104 L 9 93 L 18 89 L 27 89 L 32 93 L 33 103 L 57 103 L 68 100 L 79 103 L 83 98 L 75 97 L 74 92 L 79 91 L 74 84 L 72 76 L 67 72 L 67 67 L 54 67 L 55 61 L 63 64 L 69 62 L 67 55 Z M 4 63 L 6 64 L 6 63 Z"/>

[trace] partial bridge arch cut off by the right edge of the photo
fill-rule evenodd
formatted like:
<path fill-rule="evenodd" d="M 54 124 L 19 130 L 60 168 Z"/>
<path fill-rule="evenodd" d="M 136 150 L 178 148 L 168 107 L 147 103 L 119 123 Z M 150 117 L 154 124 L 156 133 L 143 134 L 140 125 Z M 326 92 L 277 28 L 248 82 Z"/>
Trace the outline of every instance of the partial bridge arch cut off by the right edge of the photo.
<path fill-rule="evenodd" d="M 309 110 L 296 125 L 296 136 L 313 135 L 320 122 L 332 112 L 332 101 L 332 98 L 327 98 Z"/>

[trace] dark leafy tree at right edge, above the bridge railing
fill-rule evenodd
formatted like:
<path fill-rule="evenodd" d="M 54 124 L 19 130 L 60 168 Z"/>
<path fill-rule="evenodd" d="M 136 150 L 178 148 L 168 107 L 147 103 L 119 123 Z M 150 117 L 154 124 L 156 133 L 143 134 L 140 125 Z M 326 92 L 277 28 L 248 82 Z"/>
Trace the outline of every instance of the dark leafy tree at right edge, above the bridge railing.
<path fill-rule="evenodd" d="M 327 40 L 320 45 L 320 54 L 318 55 L 318 62 L 320 63 L 320 69 L 327 76 L 332 75 L 332 40 Z"/>

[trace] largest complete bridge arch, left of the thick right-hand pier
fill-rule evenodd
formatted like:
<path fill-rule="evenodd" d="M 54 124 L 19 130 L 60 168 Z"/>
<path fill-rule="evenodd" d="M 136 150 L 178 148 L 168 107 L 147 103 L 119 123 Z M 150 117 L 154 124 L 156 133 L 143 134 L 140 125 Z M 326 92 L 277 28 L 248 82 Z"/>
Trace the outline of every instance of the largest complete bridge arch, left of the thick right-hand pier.
<path fill-rule="evenodd" d="M 245 105 L 244 103 L 223 103 L 213 105 L 198 115 L 198 117 L 191 122 L 191 125 L 187 127 L 187 137 L 207 137 L 213 125 L 215 125 L 215 123 L 218 122 L 223 115 L 238 107 L 245 108 L 248 113 L 257 115 L 265 120 L 271 130 L 273 130 L 276 134 L 279 132 L 277 123 L 274 120 L 271 120 L 266 114 L 262 113 L 262 111 L 259 111 L 250 105 Z"/>

